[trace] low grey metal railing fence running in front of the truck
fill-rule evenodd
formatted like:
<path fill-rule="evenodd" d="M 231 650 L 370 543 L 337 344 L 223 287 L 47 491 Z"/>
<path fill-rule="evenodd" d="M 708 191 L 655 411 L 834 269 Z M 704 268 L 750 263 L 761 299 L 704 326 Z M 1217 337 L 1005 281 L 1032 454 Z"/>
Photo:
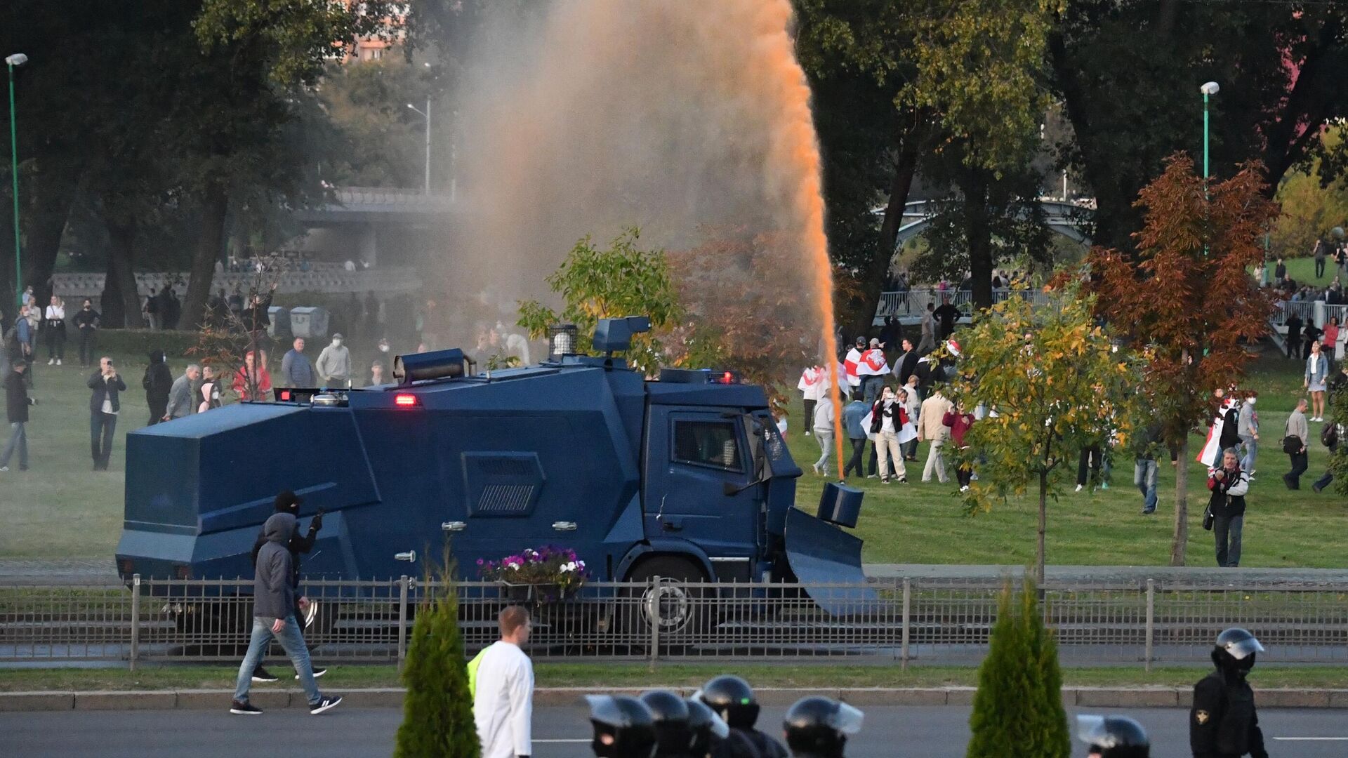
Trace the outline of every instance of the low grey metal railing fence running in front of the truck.
<path fill-rule="evenodd" d="M 252 581 L 136 580 L 133 587 L 0 588 L 0 661 L 239 660 Z M 907 579 L 857 585 L 592 583 L 574 597 L 546 588 L 460 583 L 468 651 L 496 639 L 497 612 L 534 608 L 539 660 L 847 660 L 976 664 L 996 623 L 1000 587 Z M 435 591 L 410 577 L 317 581 L 306 630 L 319 661 L 402 662 L 418 606 Z M 1219 631 L 1246 626 L 1264 660 L 1348 662 L 1348 585 L 1046 585 L 1042 611 L 1066 665 L 1202 662 Z M 863 595 L 865 597 L 863 597 Z M 813 597 L 811 597 L 813 596 Z M 816 597 L 844 607 L 824 611 Z"/>

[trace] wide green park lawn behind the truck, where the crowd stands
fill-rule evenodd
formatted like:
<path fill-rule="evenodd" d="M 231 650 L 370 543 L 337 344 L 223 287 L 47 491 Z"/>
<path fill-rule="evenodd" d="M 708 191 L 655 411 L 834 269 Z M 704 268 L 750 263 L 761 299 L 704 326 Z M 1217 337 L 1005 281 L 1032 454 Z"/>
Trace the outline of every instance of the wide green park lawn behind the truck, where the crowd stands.
<path fill-rule="evenodd" d="M 40 353 L 39 353 L 40 355 Z M 89 390 L 85 380 L 92 370 L 78 366 L 36 367 L 39 406 L 32 410 L 28 444 L 32 469 L 0 473 L 0 557 L 97 557 L 109 558 L 117 544 L 123 513 L 123 468 L 127 432 L 140 428 L 148 414 L 140 378 L 146 359 L 115 356 L 128 392 L 111 471 L 93 472 L 89 456 Z M 174 375 L 186 366 L 170 359 Z M 1316 495 L 1310 482 L 1326 465 L 1326 450 L 1313 442 L 1310 469 L 1299 492 L 1289 492 L 1281 475 L 1287 456 L 1278 449 L 1286 411 L 1301 388 L 1299 363 L 1275 357 L 1260 359 L 1251 371 L 1250 386 L 1260 391 L 1260 421 L 1264 445 L 1260 448 L 1259 476 L 1250 494 L 1246 517 L 1246 566 L 1348 566 L 1348 554 L 1335 540 L 1348 517 L 1348 502 L 1329 491 Z M 813 437 L 801 430 L 799 409 L 790 417 L 789 441 L 802 468 L 818 457 Z M 1318 434 L 1313 425 L 1313 434 Z M 1190 459 L 1201 438 L 1194 437 Z M 926 460 L 926 446 L 919 446 Z M 1205 504 L 1204 472 L 1190 465 L 1190 564 L 1212 565 L 1211 535 L 1202 531 L 1200 515 Z M 867 491 L 857 534 L 865 540 L 867 562 L 958 562 L 1027 564 L 1034 557 L 1035 506 L 1031 498 L 998 503 L 991 513 L 965 515 L 953 484 L 921 484 L 921 464 L 910 464 L 909 484 L 882 486 L 878 480 L 856 480 Z M 822 479 L 805 475 L 799 480 L 798 503 L 813 510 Z M 1049 562 L 1101 565 L 1165 565 L 1169 560 L 1174 513 L 1174 469 L 1161 465 L 1161 506 L 1155 515 L 1142 517 L 1142 498 L 1132 487 L 1132 461 L 1116 460 L 1108 491 L 1066 492 L 1049 506 Z M 1070 486 L 1069 486 L 1070 490 Z"/>

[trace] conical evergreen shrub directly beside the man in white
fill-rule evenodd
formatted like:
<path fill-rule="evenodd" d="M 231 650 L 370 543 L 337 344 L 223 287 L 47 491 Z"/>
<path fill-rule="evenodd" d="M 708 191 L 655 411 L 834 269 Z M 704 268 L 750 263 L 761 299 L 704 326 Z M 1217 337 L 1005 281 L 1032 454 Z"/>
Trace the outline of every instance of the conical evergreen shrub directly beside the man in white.
<path fill-rule="evenodd" d="M 449 550 L 446 549 L 446 558 Z M 450 561 L 446 560 L 446 566 Z M 458 631 L 458 587 L 453 569 L 439 581 L 426 580 L 417 606 L 411 645 L 403 665 L 403 723 L 394 743 L 396 758 L 479 758 L 473 700 L 464 666 L 464 641 Z"/>

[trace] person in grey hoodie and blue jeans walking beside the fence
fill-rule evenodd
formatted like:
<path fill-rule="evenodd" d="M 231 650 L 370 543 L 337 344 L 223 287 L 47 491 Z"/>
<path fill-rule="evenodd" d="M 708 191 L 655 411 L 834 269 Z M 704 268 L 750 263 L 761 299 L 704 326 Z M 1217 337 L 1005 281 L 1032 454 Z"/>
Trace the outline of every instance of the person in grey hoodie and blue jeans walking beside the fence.
<path fill-rule="evenodd" d="M 309 660 L 309 647 L 299 633 L 299 620 L 295 618 L 295 606 L 301 599 L 295 597 L 291 585 L 294 562 L 286 544 L 295 531 L 295 517 L 288 513 L 272 514 L 263 526 L 266 544 L 257 550 L 253 569 L 253 624 L 252 635 L 248 639 L 248 653 L 244 654 L 243 664 L 239 665 L 239 678 L 235 684 L 235 699 L 229 705 L 231 713 L 259 715 L 262 709 L 248 703 L 248 689 L 252 685 L 252 674 L 267 653 L 267 646 L 272 638 L 280 642 L 290 662 L 294 664 L 299 674 L 299 684 L 309 697 L 309 712 L 313 715 L 330 711 L 341 703 L 341 697 L 325 697 L 318 692 L 314 681 L 313 664 Z"/>

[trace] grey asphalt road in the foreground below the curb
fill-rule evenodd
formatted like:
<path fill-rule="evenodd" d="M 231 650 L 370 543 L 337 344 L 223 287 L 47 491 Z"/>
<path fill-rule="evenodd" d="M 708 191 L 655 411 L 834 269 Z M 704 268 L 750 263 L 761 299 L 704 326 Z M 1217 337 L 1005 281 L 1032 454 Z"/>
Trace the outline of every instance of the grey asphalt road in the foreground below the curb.
<path fill-rule="evenodd" d="M 968 740 L 964 707 L 865 708 L 865 727 L 848 750 L 852 758 L 961 758 Z M 1154 758 L 1190 758 L 1181 709 L 1124 711 L 1151 732 Z M 1069 713 L 1070 715 L 1070 713 Z M 782 708 L 764 709 L 763 724 L 779 724 Z M 24 758 L 97 755 L 179 757 L 286 755 L 341 758 L 388 755 L 402 720 L 396 709 L 338 708 L 324 716 L 279 709 L 262 716 L 225 711 L 59 711 L 0 713 L 0 755 Z M 1348 754 L 1348 722 L 1341 711 L 1260 713 L 1274 758 L 1341 758 Z M 589 726 L 580 708 L 539 708 L 534 713 L 539 758 L 590 755 Z M 1339 738 L 1339 739 L 1308 739 Z M 1085 755 L 1078 745 L 1073 755 Z"/>

